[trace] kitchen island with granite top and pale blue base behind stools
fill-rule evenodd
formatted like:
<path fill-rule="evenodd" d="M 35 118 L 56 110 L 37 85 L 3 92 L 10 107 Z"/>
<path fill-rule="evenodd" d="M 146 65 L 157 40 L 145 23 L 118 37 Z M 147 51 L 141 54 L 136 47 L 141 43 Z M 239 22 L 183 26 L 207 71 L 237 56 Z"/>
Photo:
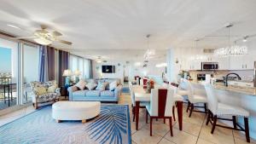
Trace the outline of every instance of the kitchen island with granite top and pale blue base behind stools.
<path fill-rule="evenodd" d="M 195 94 L 206 95 L 203 82 L 191 81 L 191 83 L 195 88 Z M 214 85 L 214 89 L 219 102 L 230 104 L 232 106 L 243 107 L 250 113 L 250 137 L 256 139 L 256 89 L 231 85 L 226 87 L 222 83 L 216 83 Z M 238 123 L 244 125 L 243 118 L 238 118 Z M 226 124 L 232 126 L 229 122 Z"/>

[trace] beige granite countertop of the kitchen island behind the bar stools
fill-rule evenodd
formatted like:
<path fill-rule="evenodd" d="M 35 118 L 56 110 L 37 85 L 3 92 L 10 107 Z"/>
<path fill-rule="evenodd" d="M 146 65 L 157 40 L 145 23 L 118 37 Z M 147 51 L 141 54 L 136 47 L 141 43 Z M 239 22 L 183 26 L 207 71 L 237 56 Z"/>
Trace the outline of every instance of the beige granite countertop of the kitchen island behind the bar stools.
<path fill-rule="evenodd" d="M 201 84 L 201 81 L 191 81 L 194 84 Z M 229 85 L 226 87 L 223 83 L 216 83 L 214 85 L 215 89 L 221 89 L 231 92 L 237 92 L 244 95 L 253 95 L 256 96 L 256 88 L 250 88 L 250 87 L 241 87 L 241 86 L 235 86 L 235 85 Z"/>

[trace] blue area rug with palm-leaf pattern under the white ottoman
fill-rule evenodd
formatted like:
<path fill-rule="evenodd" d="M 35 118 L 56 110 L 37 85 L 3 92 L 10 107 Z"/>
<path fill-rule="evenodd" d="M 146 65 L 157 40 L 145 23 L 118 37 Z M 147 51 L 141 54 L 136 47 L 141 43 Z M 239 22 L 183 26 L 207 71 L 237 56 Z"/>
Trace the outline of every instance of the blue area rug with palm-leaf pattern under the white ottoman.
<path fill-rule="evenodd" d="M 51 106 L 41 108 L 0 127 L 0 143 L 131 144 L 127 105 L 102 105 L 98 117 L 87 123 L 51 117 Z"/>

